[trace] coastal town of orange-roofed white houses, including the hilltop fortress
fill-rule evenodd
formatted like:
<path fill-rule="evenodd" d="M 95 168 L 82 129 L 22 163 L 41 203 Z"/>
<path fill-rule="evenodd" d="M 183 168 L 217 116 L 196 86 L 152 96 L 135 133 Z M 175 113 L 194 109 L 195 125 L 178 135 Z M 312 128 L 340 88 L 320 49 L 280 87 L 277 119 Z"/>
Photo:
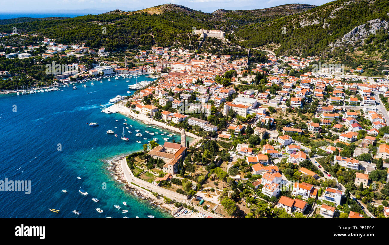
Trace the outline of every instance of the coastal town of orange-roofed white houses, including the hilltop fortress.
<path fill-rule="evenodd" d="M 212 38 L 227 42 L 218 30 L 198 31 L 199 40 L 204 33 L 203 45 Z M 261 51 L 264 62 L 205 48 L 119 54 L 51 38 L 0 49 L 2 62 L 33 60 L 54 71 L 45 82 L 3 68 L 4 81 L 23 83 L 23 90 L 3 85 L 7 94 L 99 76 L 155 77 L 113 106 L 119 107 L 115 112 L 180 132 L 180 142 L 151 141 L 125 158 L 133 182 L 174 204 L 174 215 L 182 208 L 210 217 L 389 215 L 389 79 L 384 75 L 364 76 L 363 67 L 333 69 L 318 57 L 266 51 Z M 312 69 L 319 62 L 321 68 Z M 67 64 L 66 69 L 54 69 L 56 64 Z M 195 140 L 189 144 L 186 137 Z"/>

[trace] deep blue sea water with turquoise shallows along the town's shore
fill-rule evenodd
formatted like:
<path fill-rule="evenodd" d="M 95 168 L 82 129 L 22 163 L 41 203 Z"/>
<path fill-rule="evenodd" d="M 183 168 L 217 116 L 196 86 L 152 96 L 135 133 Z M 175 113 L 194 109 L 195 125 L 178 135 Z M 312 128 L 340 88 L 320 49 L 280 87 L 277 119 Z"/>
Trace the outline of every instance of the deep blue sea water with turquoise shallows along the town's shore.
<path fill-rule="evenodd" d="M 130 195 L 106 169 L 107 160 L 114 156 L 141 150 L 142 144 L 154 137 L 163 144 L 161 137 L 166 137 L 161 136 L 161 132 L 155 136 L 144 132 L 159 131 L 158 128 L 146 128 L 145 124 L 119 113 L 101 112 L 100 103 L 109 106 L 109 99 L 118 94 L 127 95 L 128 85 L 135 83 L 135 78 L 131 78 L 131 82 L 126 82 L 127 78 L 114 80 L 112 77 L 111 80 L 93 81 L 95 85 L 87 82 L 86 88 L 76 83 L 76 90 L 70 85 L 60 87 L 61 91 L 0 96 L 0 180 L 30 180 L 32 185 L 30 195 L 0 191 L 0 217 L 172 217 Z M 151 78 L 138 77 L 138 81 L 143 80 Z M 16 112 L 12 111 L 14 105 Z M 125 118 L 127 130 L 133 132 L 129 134 L 124 128 L 126 137 L 130 138 L 128 142 L 120 139 Z M 90 127 L 89 122 L 100 125 Z M 118 137 L 106 134 L 109 129 Z M 135 129 L 139 129 L 147 141 L 136 137 Z M 179 141 L 180 136 L 175 134 L 170 142 L 172 139 Z M 61 151 L 58 151 L 58 144 L 62 146 Z M 102 189 L 104 183 L 105 190 Z M 63 189 L 68 193 L 61 192 Z M 81 195 L 79 189 L 86 190 L 88 196 Z M 93 197 L 100 202 L 93 202 Z M 127 207 L 123 201 L 128 203 Z M 121 210 L 129 212 L 122 214 L 113 205 L 120 205 Z M 49 208 L 60 212 L 50 212 Z M 96 208 L 103 209 L 103 213 L 96 212 Z M 73 214 L 75 209 L 82 214 Z"/>

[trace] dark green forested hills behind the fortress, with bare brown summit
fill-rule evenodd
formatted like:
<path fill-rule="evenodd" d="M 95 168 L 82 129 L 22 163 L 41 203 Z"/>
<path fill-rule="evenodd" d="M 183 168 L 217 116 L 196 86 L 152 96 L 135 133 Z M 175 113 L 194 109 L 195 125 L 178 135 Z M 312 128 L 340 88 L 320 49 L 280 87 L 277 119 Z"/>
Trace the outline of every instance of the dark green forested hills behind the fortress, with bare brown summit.
<path fill-rule="evenodd" d="M 310 8 L 312 5 L 283 5 L 264 10 L 228 11 L 224 18 L 223 14 L 204 13 L 181 5 L 164 4 L 133 12 L 113 10 L 105 14 L 63 20 L 0 25 L 0 31 L 10 32 L 16 26 L 19 31 L 55 38 L 58 43 L 84 42 L 91 48 L 103 46 L 107 50 L 147 48 L 152 45 L 169 47 L 174 44 L 193 48 L 198 42 L 196 38 L 188 38 L 187 35 L 191 33 L 192 27 L 228 31 L 231 25 L 240 28 L 247 23 L 279 17 L 282 12 L 291 14 Z M 102 31 L 103 28 L 106 28 L 106 34 Z"/>

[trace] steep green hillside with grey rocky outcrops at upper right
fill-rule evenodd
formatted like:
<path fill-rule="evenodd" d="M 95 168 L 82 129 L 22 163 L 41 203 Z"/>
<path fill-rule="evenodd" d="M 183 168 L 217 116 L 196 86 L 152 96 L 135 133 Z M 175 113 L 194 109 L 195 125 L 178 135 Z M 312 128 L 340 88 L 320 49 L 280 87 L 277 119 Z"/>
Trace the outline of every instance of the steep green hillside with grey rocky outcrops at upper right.
<path fill-rule="evenodd" d="M 389 0 L 338 0 L 300 14 L 245 26 L 235 35 L 246 47 L 272 44 L 279 54 L 342 56 L 375 42 L 372 51 L 385 55 L 388 13 Z"/>

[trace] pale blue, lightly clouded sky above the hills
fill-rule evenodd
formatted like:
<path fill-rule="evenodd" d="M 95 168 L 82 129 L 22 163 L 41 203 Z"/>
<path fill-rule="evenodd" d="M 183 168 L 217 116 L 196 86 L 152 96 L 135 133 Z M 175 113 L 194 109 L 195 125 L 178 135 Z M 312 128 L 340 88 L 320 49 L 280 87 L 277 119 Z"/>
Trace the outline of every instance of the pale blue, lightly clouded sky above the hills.
<path fill-rule="evenodd" d="M 0 12 L 90 12 L 98 14 L 114 9 L 124 11 L 140 10 L 164 3 L 184 5 L 203 12 L 217 9 L 264 9 L 288 3 L 322 5 L 330 0 L 12 0 L 0 1 Z M 55 15 L 54 15 L 55 16 Z"/>

